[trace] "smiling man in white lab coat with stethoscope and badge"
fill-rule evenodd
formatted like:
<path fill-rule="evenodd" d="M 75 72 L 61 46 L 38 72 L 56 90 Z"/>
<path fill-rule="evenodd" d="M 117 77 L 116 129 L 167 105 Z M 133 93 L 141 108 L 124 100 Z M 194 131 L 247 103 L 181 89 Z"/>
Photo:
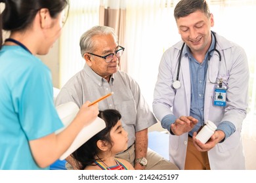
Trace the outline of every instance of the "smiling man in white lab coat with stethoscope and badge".
<path fill-rule="evenodd" d="M 156 118 L 171 133 L 170 161 L 180 169 L 245 169 L 240 133 L 249 80 L 245 52 L 211 31 L 206 1 L 181 0 L 174 16 L 182 41 L 161 58 L 153 101 Z M 206 120 L 217 130 L 203 144 L 196 134 Z"/>

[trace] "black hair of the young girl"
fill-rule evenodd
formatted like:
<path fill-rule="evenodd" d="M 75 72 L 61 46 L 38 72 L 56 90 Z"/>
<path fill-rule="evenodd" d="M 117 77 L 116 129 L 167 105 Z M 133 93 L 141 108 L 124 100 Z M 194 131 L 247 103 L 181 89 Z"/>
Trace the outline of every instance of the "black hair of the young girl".
<path fill-rule="evenodd" d="M 95 156 L 100 151 L 96 145 L 97 141 L 102 140 L 112 144 L 110 130 L 121 119 L 121 114 L 117 110 L 107 109 L 100 111 L 98 117 L 105 121 L 106 127 L 89 139 L 89 141 L 85 142 L 71 155 L 77 163 L 80 163 L 80 169 L 85 169 L 85 167 L 95 162 Z"/>

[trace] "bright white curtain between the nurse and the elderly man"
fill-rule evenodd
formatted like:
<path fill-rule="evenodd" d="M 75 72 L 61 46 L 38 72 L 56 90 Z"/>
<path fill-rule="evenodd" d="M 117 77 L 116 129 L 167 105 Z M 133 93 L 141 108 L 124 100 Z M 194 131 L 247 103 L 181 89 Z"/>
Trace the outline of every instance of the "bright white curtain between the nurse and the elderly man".
<path fill-rule="evenodd" d="M 60 37 L 60 88 L 83 69 L 79 39 L 87 29 L 99 24 L 99 7 L 99 0 L 70 0 L 68 20 Z"/>

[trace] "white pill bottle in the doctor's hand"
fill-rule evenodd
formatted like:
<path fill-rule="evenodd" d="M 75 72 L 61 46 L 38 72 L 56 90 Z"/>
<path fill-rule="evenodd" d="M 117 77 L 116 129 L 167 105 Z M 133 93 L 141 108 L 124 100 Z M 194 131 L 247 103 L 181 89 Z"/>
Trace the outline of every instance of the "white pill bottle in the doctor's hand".
<path fill-rule="evenodd" d="M 196 135 L 196 139 L 205 144 L 205 142 L 211 138 L 211 135 L 213 135 L 216 129 L 217 126 L 213 122 L 206 120 L 205 125 L 203 125 L 203 128 L 199 131 L 198 135 Z"/>

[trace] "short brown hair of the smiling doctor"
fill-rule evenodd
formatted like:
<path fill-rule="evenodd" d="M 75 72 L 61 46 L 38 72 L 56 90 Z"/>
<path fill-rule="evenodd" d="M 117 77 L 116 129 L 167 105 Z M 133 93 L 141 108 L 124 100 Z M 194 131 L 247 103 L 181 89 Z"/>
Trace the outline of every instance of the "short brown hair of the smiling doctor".
<path fill-rule="evenodd" d="M 210 18 L 211 12 L 205 0 L 181 0 L 174 9 L 174 17 L 177 21 L 179 18 L 188 16 L 189 14 L 202 11 L 207 18 Z"/>

